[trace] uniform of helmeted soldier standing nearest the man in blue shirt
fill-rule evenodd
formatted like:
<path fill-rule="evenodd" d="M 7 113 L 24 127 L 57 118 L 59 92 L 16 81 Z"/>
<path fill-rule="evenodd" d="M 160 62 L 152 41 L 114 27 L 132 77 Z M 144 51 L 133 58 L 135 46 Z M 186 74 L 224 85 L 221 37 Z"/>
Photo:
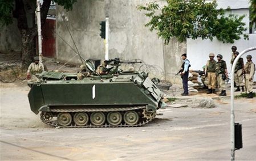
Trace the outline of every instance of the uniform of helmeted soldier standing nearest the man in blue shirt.
<path fill-rule="evenodd" d="M 209 89 L 215 89 L 216 88 L 216 61 L 207 61 L 206 64 L 206 73 L 207 73 L 207 79 L 208 79 L 208 88 Z"/>

